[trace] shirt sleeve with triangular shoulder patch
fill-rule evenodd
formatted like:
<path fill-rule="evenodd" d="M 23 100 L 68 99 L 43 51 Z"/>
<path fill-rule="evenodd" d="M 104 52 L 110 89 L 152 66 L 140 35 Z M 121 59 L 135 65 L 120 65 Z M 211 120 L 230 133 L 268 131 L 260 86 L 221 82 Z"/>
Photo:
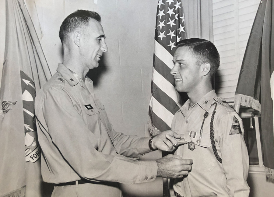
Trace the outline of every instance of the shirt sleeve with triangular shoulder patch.
<path fill-rule="evenodd" d="M 248 197 L 249 157 L 242 120 L 237 113 L 224 115 L 218 124 L 219 144 L 227 189 L 231 197 Z"/>

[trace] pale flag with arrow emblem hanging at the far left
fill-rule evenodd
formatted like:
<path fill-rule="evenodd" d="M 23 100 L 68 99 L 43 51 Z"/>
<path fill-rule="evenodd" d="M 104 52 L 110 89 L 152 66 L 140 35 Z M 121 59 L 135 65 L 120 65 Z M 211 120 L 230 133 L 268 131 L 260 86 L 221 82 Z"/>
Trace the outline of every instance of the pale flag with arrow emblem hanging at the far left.
<path fill-rule="evenodd" d="M 23 0 L 6 0 L 0 89 L 0 196 L 41 196 L 34 98 L 51 77 Z"/>

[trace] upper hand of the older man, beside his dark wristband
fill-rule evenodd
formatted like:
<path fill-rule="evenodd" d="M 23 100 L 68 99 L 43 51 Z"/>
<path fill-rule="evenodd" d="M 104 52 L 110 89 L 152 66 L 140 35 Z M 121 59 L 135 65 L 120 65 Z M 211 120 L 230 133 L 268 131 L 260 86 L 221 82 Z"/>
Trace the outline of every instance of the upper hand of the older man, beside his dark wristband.
<path fill-rule="evenodd" d="M 181 144 L 186 144 L 183 135 L 178 135 L 176 132 L 171 130 L 163 131 L 160 134 L 156 135 L 152 139 L 153 149 L 160 149 L 163 151 L 173 151 L 177 146 Z"/>

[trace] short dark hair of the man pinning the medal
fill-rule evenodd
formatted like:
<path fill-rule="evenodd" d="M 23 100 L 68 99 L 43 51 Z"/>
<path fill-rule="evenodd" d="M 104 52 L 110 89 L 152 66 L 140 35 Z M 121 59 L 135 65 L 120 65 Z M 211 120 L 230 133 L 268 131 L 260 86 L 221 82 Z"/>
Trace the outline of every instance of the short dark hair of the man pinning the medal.
<path fill-rule="evenodd" d="M 72 33 L 77 28 L 83 28 L 89 25 L 90 19 L 95 19 L 101 22 L 101 16 L 97 12 L 89 10 L 77 10 L 68 15 L 60 26 L 59 37 L 63 44 L 68 38 L 68 34 Z"/>

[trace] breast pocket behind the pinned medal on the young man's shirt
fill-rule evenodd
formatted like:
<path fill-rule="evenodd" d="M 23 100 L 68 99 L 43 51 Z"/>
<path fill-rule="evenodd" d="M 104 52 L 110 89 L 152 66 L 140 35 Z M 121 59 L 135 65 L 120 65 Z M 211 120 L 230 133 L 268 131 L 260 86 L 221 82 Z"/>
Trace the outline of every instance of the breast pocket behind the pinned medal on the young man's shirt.
<path fill-rule="evenodd" d="M 195 134 L 193 132 L 189 131 L 185 134 L 185 140 L 194 142 L 196 148 L 193 151 L 187 150 L 185 155 L 188 158 L 193 158 L 193 169 L 210 171 L 216 166 L 216 157 L 211 146 L 210 133 L 203 131 L 199 143 L 200 131 L 196 131 Z"/>

